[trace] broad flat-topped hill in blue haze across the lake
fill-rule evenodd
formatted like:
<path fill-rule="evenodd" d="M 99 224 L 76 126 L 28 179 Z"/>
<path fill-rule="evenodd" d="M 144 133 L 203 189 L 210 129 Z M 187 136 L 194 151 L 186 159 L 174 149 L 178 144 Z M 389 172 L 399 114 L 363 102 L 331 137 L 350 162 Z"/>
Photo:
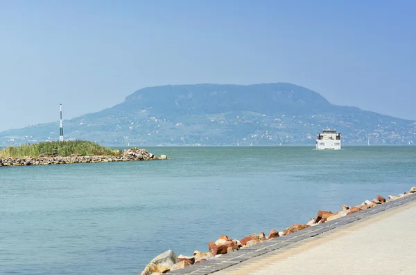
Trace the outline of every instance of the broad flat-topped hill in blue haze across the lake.
<path fill-rule="evenodd" d="M 71 108 L 71 106 L 67 106 Z M 64 121 L 66 139 L 127 145 L 315 144 L 326 127 L 344 144 L 408 144 L 416 122 L 336 106 L 288 83 L 167 85 L 142 88 L 121 104 Z M 57 122 L 0 133 L 0 146 L 57 140 Z"/>

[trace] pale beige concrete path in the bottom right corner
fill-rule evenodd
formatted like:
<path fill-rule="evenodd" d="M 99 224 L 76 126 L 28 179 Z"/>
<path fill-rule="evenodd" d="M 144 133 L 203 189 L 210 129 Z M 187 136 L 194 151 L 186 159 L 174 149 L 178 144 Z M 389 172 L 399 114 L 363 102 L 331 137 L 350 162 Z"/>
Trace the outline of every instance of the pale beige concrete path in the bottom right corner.
<path fill-rule="evenodd" d="M 413 201 L 214 274 L 416 274 L 415 235 Z"/>

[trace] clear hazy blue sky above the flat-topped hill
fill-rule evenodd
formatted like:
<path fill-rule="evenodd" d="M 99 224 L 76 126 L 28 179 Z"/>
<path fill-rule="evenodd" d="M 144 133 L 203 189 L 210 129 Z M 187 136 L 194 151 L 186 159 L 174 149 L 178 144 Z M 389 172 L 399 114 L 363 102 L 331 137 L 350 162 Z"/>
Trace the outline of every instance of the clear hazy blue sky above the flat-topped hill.
<path fill-rule="evenodd" d="M 416 1 L 0 0 L 0 130 L 162 84 L 291 82 L 416 120 Z"/>

